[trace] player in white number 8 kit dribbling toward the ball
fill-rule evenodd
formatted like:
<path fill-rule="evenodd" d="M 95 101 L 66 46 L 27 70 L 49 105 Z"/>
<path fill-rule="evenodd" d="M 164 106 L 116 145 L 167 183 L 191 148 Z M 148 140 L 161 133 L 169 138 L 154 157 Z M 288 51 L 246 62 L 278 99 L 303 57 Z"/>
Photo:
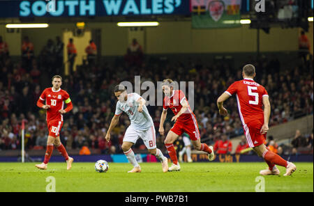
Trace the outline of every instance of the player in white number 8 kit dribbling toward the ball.
<path fill-rule="evenodd" d="M 163 172 L 166 173 L 168 171 L 168 159 L 156 148 L 154 122 L 145 106 L 146 101 L 137 93 L 126 93 L 126 88 L 121 84 L 114 88 L 114 95 L 119 101 L 117 102 L 116 111 L 107 130 L 105 139 L 108 142 L 110 141 L 110 133 L 118 124 L 121 113 L 127 113 L 128 118 L 130 118 L 130 126 L 126 129 L 121 148 L 124 154 L 126 154 L 128 161 L 130 161 L 130 164 L 133 165 L 133 169 L 128 171 L 128 173 L 141 172 L 140 165 L 137 163 L 134 152 L 131 149 L 138 138 L 142 138 L 149 153 L 153 154 L 161 161 Z"/>

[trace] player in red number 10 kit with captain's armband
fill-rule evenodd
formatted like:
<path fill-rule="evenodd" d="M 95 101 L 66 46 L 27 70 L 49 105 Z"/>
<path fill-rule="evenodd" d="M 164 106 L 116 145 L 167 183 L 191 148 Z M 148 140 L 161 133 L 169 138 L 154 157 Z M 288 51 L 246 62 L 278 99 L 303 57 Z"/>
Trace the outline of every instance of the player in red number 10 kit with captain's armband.
<path fill-rule="evenodd" d="M 63 125 L 63 114 L 73 109 L 70 96 L 65 90 L 60 88 L 61 84 L 61 76 L 55 75 L 52 77 L 52 87 L 43 90 L 37 102 L 37 106 L 47 111 L 46 120 L 49 131 L 45 159 L 42 164 L 36 164 L 36 167 L 42 170 L 47 169 L 54 146 L 59 150 L 64 159 L 66 159 L 67 170 L 70 170 L 73 162 L 73 158 L 68 157 L 68 152 L 66 152 L 66 148 L 62 145 L 59 136 Z M 45 104 L 43 104 L 44 102 Z M 66 109 L 63 109 L 64 102 L 66 102 Z"/>

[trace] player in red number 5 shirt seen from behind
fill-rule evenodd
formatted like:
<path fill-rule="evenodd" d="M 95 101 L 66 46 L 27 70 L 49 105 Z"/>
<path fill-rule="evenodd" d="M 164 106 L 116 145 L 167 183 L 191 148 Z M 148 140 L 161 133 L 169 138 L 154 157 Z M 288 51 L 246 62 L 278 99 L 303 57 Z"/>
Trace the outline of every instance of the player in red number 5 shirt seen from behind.
<path fill-rule="evenodd" d="M 291 175 L 296 171 L 297 167 L 289 161 L 281 158 L 278 154 L 271 152 L 264 145 L 266 134 L 269 130 L 270 103 L 267 90 L 257 84 L 253 78 L 255 77 L 255 67 L 251 64 L 245 65 L 242 70 L 241 81 L 235 81 L 217 100 L 217 106 L 220 115 L 227 116 L 227 110 L 223 107 L 223 102 L 232 95 L 237 96 L 239 115 L 246 141 L 250 148 L 262 157 L 268 164 L 267 170 L 260 171 L 261 175 L 279 175 L 280 171 L 276 165 L 284 166 L 286 173 L 284 176 Z M 264 111 L 262 106 L 264 105 Z"/>

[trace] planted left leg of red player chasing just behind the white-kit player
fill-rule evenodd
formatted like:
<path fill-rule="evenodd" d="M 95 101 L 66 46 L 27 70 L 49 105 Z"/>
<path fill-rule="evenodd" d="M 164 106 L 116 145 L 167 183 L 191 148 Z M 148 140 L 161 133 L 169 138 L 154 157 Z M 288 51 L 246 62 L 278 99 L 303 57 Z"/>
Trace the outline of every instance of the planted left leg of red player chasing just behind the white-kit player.
<path fill-rule="evenodd" d="M 174 149 L 173 143 L 177 140 L 179 135 L 175 134 L 171 130 L 168 132 L 166 138 L 165 138 L 165 147 L 167 148 L 168 154 L 170 156 L 170 159 L 172 160 L 172 166 L 168 169 L 168 171 L 180 171 L 180 165 L 177 159 L 177 152 Z"/>

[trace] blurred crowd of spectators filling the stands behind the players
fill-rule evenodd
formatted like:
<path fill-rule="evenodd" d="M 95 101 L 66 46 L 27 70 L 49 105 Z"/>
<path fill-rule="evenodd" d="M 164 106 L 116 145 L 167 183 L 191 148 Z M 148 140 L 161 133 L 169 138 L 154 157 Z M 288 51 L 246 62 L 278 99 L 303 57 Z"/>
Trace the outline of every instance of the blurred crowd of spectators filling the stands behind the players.
<path fill-rule="evenodd" d="M 53 42 L 50 42 L 53 45 Z M 53 54 L 51 54 L 53 55 Z M 40 150 L 47 143 L 45 111 L 36 106 L 36 102 L 51 80 L 43 84 L 43 75 L 54 75 L 47 61 L 33 58 L 30 68 L 24 68 L 22 61 L 13 61 L 10 56 L 0 61 L 0 150 L 20 148 L 21 122 L 25 125 L 25 144 L 27 150 Z M 49 62 L 49 61 L 48 61 Z M 313 114 L 313 59 L 299 61 L 298 65 L 283 68 L 276 59 L 262 58 L 253 63 L 257 69 L 255 81 L 265 86 L 271 102 L 270 126 Z M 49 69 L 47 69 L 49 68 Z M 56 68 L 57 69 L 57 68 Z M 58 70 L 61 70 L 60 68 Z M 121 81 L 130 81 L 134 85 L 135 75 L 141 82 L 170 78 L 174 81 L 194 81 L 194 113 L 200 126 L 202 142 L 210 145 L 223 136 L 233 138 L 244 134 L 238 115 L 237 100 L 232 97 L 225 103 L 230 111 L 223 118 L 218 115 L 216 100 L 232 82 L 242 79 L 241 68 L 232 63 L 209 62 L 182 63 L 177 61 L 144 61 L 142 65 L 130 65 L 124 58 L 115 63 L 84 63 L 70 76 L 63 75 L 61 88 L 68 91 L 73 102 L 73 110 L 66 114 L 61 130 L 61 141 L 66 148 L 80 149 L 83 146 L 98 148 L 103 154 L 119 153 L 124 132 L 130 124 L 128 116 L 121 116 L 119 126 L 114 129 L 112 141 L 104 139 L 106 129 L 114 116 L 117 99 L 113 88 Z M 188 85 L 188 84 L 186 84 Z M 181 89 L 181 88 L 180 88 Z M 188 91 L 188 89 L 186 89 Z M 141 95 L 145 91 L 141 91 Z M 186 94 L 188 97 L 188 94 Z M 148 106 L 156 128 L 157 147 L 163 148 L 163 140 L 158 133 L 162 106 Z M 165 122 L 165 134 L 171 129 L 172 112 L 168 112 Z M 308 144 L 311 142 L 311 136 Z M 306 140 L 307 141 L 307 140 Z M 313 134 L 312 145 L 313 147 Z M 145 150 L 139 139 L 137 150 Z"/>

